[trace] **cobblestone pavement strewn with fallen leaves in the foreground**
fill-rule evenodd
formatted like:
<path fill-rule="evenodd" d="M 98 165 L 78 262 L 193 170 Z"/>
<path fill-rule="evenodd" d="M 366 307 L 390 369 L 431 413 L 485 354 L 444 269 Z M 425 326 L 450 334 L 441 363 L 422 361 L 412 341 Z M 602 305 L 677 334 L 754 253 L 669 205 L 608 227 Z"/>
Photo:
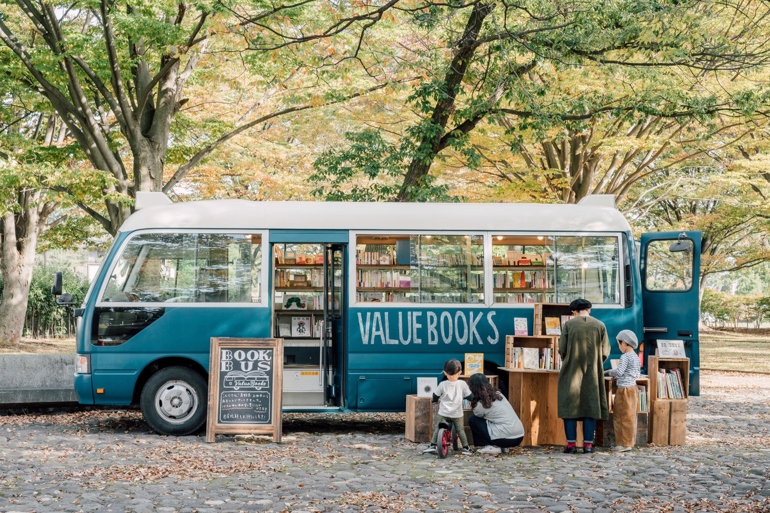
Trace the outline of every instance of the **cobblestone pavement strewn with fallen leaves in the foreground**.
<path fill-rule="evenodd" d="M 0 511 L 770 511 L 770 375 L 705 373 L 688 445 L 422 455 L 403 415 L 286 415 L 284 442 L 136 411 L 0 417 Z"/>

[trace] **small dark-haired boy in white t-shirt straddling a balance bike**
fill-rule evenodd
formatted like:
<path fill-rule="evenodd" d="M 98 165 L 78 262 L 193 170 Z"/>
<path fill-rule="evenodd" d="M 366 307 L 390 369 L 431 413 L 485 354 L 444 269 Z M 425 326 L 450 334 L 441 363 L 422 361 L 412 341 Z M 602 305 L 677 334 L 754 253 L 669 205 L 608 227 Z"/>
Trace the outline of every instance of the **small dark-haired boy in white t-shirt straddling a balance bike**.
<path fill-rule="evenodd" d="M 463 427 L 463 399 L 470 399 L 473 395 L 465 381 L 460 381 L 460 371 L 462 366 L 456 359 L 447 360 L 444 364 L 444 375 L 446 381 L 441 381 L 434 391 L 434 402 L 441 399 L 438 405 L 438 415 L 434 425 L 434 434 L 430 438 L 430 445 L 423 452 L 436 452 L 436 442 L 438 440 L 438 423 L 442 421 L 452 422 L 460 437 L 460 444 L 463 445 L 462 454 L 473 455 L 474 451 L 468 445 L 468 438 L 465 436 Z"/>

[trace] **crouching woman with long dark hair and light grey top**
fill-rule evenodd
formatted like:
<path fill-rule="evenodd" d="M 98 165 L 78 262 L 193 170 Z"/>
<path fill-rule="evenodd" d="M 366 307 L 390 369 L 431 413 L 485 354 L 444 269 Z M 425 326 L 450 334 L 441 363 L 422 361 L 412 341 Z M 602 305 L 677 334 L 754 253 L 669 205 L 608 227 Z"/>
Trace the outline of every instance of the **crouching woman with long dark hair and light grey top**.
<path fill-rule="evenodd" d="M 524 426 L 500 391 L 492 388 L 483 374 L 470 376 L 468 388 L 474 395 L 470 401 L 474 415 L 468 419 L 468 425 L 474 435 L 474 445 L 482 446 L 478 452 L 499 455 L 521 444 Z"/>

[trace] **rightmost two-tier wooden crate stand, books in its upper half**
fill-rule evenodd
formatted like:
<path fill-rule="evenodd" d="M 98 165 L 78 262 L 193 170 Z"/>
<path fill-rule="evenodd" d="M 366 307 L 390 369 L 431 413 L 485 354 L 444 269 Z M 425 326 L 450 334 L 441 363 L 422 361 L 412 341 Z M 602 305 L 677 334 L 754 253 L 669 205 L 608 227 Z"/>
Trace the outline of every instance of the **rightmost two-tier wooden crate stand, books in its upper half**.
<path fill-rule="evenodd" d="M 658 371 L 678 368 L 685 398 L 658 398 Z M 647 362 L 650 375 L 651 442 L 655 445 L 685 445 L 687 438 L 687 401 L 690 396 L 690 359 L 658 358 Z"/>

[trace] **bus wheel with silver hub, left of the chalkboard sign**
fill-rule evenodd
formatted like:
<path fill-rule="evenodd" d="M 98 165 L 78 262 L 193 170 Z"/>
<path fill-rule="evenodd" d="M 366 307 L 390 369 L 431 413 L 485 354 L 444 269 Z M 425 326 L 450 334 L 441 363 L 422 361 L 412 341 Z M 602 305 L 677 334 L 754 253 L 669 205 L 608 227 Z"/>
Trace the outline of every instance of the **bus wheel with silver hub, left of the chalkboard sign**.
<path fill-rule="evenodd" d="M 189 368 L 163 368 L 142 388 L 142 415 L 161 435 L 191 435 L 206 422 L 207 386 Z"/>

